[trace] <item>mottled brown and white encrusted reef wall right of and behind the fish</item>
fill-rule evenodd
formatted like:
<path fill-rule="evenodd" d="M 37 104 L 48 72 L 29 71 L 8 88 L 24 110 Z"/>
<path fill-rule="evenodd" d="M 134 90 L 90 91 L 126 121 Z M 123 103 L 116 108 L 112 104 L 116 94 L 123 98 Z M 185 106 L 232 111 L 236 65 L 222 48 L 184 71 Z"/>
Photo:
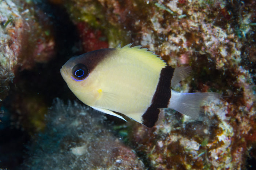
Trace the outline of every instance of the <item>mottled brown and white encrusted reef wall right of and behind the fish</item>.
<path fill-rule="evenodd" d="M 132 123 L 127 140 L 146 155 L 149 167 L 245 167 L 256 142 L 256 11 L 251 7 L 255 1 L 72 2 L 72 7 L 64 4 L 72 18 L 105 30 L 110 47 L 117 44 L 112 39 L 118 35 L 108 31 L 109 25 L 118 29 L 116 32 L 126 32 L 123 36 L 129 42 L 155 51 L 173 67 L 191 65 L 192 83 L 182 82 L 175 90 L 217 91 L 228 96 L 204 107 L 210 124 L 170 116 L 166 110 L 169 116 L 155 129 Z"/>

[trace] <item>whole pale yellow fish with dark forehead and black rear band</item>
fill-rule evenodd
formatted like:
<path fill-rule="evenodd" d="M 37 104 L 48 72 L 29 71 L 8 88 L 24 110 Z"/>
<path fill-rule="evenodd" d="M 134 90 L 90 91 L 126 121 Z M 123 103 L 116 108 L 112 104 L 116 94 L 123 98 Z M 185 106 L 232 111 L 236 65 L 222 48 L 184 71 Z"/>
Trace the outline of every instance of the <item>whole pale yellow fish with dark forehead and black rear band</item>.
<path fill-rule="evenodd" d="M 204 120 L 200 107 L 219 94 L 172 90 L 191 67 L 173 68 L 147 48 L 131 46 L 119 44 L 74 56 L 61 67 L 61 76 L 84 104 L 125 121 L 123 115 L 153 127 L 162 117 L 161 108 Z"/>

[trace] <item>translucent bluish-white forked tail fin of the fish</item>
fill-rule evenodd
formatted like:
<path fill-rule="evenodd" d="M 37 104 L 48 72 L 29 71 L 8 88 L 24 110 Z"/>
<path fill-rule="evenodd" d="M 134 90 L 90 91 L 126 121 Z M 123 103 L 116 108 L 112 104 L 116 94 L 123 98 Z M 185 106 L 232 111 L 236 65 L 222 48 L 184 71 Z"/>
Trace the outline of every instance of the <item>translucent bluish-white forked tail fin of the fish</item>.
<path fill-rule="evenodd" d="M 192 117 L 192 119 L 202 121 L 204 114 L 200 112 L 200 106 L 207 102 L 220 98 L 218 93 L 179 93 L 172 91 L 172 96 L 168 104 L 168 108 L 172 108 L 184 115 Z"/>

